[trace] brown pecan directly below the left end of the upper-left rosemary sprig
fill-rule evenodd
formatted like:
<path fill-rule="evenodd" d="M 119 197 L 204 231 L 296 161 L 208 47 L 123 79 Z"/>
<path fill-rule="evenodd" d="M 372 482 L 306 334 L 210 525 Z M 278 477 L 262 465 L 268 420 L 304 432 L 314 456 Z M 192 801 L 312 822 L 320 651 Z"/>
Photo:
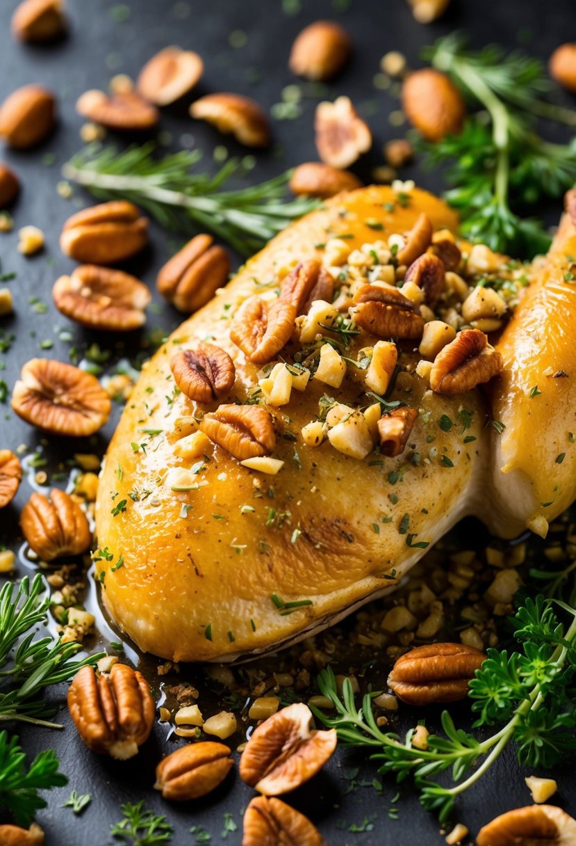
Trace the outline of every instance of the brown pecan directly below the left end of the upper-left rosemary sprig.
<path fill-rule="evenodd" d="M 125 200 L 78 211 L 64 223 L 60 247 L 87 264 L 110 265 L 138 253 L 148 243 L 148 218 Z"/>

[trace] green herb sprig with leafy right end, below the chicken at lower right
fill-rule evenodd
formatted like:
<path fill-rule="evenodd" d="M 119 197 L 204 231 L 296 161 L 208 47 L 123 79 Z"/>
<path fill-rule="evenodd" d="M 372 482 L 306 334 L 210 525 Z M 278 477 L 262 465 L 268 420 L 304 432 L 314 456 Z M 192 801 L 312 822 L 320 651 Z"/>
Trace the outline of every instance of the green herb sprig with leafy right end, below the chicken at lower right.
<path fill-rule="evenodd" d="M 443 711 L 445 736 L 431 734 L 427 750 L 416 749 L 411 745 L 413 729 L 401 739 L 378 728 L 372 695 L 365 695 L 356 708 L 350 681 L 345 679 L 340 697 L 330 667 L 319 674 L 318 688 L 334 703 L 336 716 L 311 706 L 312 711 L 336 729 L 341 743 L 372 750 L 370 757 L 379 763 L 379 773 L 394 773 L 399 782 L 411 776 L 421 804 L 445 822 L 457 796 L 490 769 L 509 743 L 516 745 L 522 764 L 544 767 L 576 749 L 576 709 L 569 699 L 569 684 L 576 673 L 576 608 L 558 604 L 572 618 L 568 629 L 553 613 L 551 601 L 544 596 L 526 599 L 514 618 L 514 636 L 521 651 L 489 649 L 475 673 L 470 698 L 479 717 L 473 728 L 502 726 L 483 740 L 456 728 L 448 711 Z M 448 770 L 452 786 L 432 780 Z"/>

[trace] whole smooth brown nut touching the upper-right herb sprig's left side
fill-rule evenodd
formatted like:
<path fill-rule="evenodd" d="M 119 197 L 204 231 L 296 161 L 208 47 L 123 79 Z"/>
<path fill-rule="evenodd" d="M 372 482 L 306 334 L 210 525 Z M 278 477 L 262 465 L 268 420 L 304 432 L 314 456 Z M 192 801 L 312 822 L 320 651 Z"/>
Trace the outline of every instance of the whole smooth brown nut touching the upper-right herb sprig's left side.
<path fill-rule="evenodd" d="M 466 115 L 459 90 L 446 74 L 433 68 L 416 70 L 406 77 L 402 105 L 410 124 L 429 141 L 458 135 Z"/>

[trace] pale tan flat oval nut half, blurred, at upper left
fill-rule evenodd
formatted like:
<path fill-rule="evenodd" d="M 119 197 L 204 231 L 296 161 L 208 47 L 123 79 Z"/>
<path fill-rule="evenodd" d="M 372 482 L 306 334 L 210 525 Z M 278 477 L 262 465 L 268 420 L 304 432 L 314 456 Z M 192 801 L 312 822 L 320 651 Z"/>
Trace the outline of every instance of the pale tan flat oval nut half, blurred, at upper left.
<path fill-rule="evenodd" d="M 165 47 L 140 71 L 136 88 L 155 106 L 168 106 L 192 91 L 204 72 L 198 53 L 181 47 Z"/>

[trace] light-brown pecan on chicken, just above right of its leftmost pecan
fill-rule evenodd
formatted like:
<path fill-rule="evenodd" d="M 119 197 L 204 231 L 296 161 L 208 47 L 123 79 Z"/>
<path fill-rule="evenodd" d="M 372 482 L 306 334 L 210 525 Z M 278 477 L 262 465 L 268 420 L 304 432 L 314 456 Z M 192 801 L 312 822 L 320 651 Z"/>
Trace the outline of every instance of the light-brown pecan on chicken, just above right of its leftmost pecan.
<path fill-rule="evenodd" d="M 230 337 L 255 364 L 264 365 L 280 353 L 291 337 L 296 306 L 281 299 L 267 302 L 255 294 L 236 311 Z"/>

